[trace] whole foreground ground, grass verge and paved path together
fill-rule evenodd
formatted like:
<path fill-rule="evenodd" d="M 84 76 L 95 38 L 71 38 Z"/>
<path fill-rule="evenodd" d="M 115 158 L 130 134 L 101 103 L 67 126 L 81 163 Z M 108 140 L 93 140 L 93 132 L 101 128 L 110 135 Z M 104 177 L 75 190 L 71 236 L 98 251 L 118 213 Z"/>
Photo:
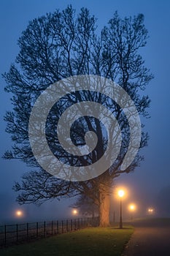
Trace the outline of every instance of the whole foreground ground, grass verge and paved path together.
<path fill-rule="evenodd" d="M 170 219 L 140 219 L 134 228 L 88 227 L 0 249 L 1 256 L 169 256 Z M 133 233 L 134 232 L 134 233 Z"/>

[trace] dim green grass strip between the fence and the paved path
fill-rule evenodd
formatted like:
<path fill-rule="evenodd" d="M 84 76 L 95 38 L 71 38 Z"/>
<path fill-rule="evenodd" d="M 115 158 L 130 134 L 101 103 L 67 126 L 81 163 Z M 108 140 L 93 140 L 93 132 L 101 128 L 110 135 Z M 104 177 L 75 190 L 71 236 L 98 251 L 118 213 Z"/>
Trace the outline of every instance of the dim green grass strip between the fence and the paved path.
<path fill-rule="evenodd" d="M 115 256 L 121 255 L 133 227 L 90 227 L 0 250 L 1 256 Z"/>

